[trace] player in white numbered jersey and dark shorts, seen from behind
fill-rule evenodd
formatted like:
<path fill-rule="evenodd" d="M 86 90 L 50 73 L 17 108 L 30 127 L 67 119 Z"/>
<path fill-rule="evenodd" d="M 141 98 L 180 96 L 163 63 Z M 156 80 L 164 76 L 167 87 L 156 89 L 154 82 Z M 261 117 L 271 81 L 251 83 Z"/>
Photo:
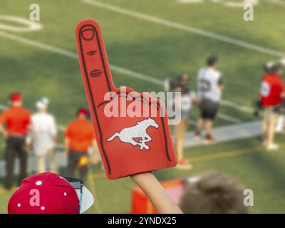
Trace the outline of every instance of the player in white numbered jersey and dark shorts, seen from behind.
<path fill-rule="evenodd" d="M 217 56 L 209 56 L 207 68 L 201 68 L 197 78 L 200 118 L 197 122 L 195 138 L 201 138 L 201 131 L 205 130 L 205 143 L 214 142 L 212 127 L 224 89 L 222 74 L 217 71 L 217 61 Z"/>

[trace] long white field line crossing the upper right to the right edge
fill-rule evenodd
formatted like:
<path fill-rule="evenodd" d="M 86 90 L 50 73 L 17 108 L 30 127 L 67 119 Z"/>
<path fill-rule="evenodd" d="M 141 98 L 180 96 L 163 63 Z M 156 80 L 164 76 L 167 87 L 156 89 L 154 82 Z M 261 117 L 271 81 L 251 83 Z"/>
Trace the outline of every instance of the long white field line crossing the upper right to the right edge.
<path fill-rule="evenodd" d="M 118 6 L 113 6 L 111 4 L 105 4 L 103 2 L 95 1 L 95 0 L 81 0 L 81 1 L 83 1 L 86 4 L 98 6 L 102 9 L 107 9 L 107 10 L 110 10 L 113 12 L 117 12 L 119 14 L 125 14 L 128 16 L 133 16 L 135 18 L 142 19 L 145 21 L 151 21 L 151 22 L 156 23 L 156 24 L 162 24 L 162 25 L 168 26 L 170 28 L 177 28 L 177 29 L 180 29 L 182 31 L 187 31 L 189 33 L 195 33 L 195 34 L 200 35 L 200 36 L 213 38 L 213 39 L 216 39 L 218 41 L 223 41 L 225 43 L 231 43 L 231 44 L 234 44 L 236 46 L 242 46 L 243 48 L 248 48 L 248 49 L 251 49 L 254 51 L 259 51 L 261 53 L 266 53 L 266 54 L 269 54 L 271 56 L 278 56 L 278 57 L 284 57 L 285 56 L 285 53 L 283 53 L 283 52 L 276 51 L 276 50 L 273 50 L 270 48 L 264 48 L 262 46 L 258 46 L 256 44 L 254 44 L 254 43 L 247 43 L 245 41 L 240 41 L 236 38 L 231 38 L 228 36 L 219 35 L 217 33 L 212 33 L 210 31 L 206 31 L 206 30 L 203 30 L 200 28 L 195 28 L 192 26 L 186 26 L 184 24 L 179 24 L 176 22 L 167 21 L 165 19 L 159 19 L 155 16 L 150 16 L 147 14 L 139 13 L 138 11 L 123 9 L 121 7 L 118 7 Z"/>

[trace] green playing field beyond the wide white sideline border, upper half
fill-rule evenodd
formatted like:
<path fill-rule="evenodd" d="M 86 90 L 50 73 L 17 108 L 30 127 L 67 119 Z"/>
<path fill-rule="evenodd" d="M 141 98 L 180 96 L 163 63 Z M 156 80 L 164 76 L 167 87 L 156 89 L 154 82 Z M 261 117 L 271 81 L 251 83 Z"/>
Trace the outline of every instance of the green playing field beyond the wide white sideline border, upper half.
<path fill-rule="evenodd" d="M 13 0 L 1 3 L 0 14 L 27 18 L 30 12 L 28 6 L 32 2 Z M 284 20 L 282 8 L 266 2 L 256 7 L 256 21 L 253 22 L 243 21 L 240 9 L 225 8 L 219 4 L 181 5 L 174 0 L 155 1 L 155 4 L 152 1 L 104 2 L 257 43 L 277 51 L 285 46 L 281 43 L 282 30 L 277 26 L 277 21 Z M 76 53 L 75 26 L 81 19 L 92 18 L 102 27 L 110 63 L 161 80 L 187 72 L 192 76 L 192 88 L 195 88 L 197 71 L 204 65 L 206 56 L 217 53 L 220 58 L 219 68 L 227 85 L 224 99 L 241 105 L 252 105 L 257 98 L 257 83 L 263 73 L 261 64 L 276 58 L 100 9 L 83 1 L 71 3 L 65 0 L 49 0 L 38 1 L 38 4 L 41 6 L 40 22 L 43 28 L 40 31 L 13 34 Z M 21 5 L 26 7 L 19 7 Z M 274 17 L 264 14 L 270 9 L 274 9 Z M 265 16 L 261 17 L 261 14 Z M 58 117 L 58 122 L 65 124 L 73 118 L 74 107 L 86 103 L 76 59 L 11 41 L 3 36 L 0 36 L 0 41 L 3 44 L 0 47 L 1 103 L 6 103 L 6 95 L 11 90 L 23 90 L 28 108 L 33 108 L 36 98 L 47 95 L 51 99 L 51 111 Z M 128 85 L 139 91 L 145 91 L 146 88 L 147 91 L 162 89 L 155 84 L 115 71 L 113 77 L 116 86 Z M 237 110 L 229 109 L 226 112 L 242 120 L 251 118 L 247 113 L 239 113 Z"/>

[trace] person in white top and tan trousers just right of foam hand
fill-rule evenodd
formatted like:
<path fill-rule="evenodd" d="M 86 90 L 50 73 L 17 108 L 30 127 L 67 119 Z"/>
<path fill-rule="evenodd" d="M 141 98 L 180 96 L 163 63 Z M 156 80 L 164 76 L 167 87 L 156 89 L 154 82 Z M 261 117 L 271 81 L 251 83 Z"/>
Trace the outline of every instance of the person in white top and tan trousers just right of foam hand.
<path fill-rule="evenodd" d="M 190 113 L 192 109 L 192 103 L 197 104 L 196 94 L 190 90 L 189 86 L 189 76 L 187 73 L 182 73 L 180 76 L 180 83 L 174 89 L 174 92 L 181 93 L 181 96 L 175 97 L 173 104 L 175 109 L 181 110 L 181 120 L 177 125 L 173 125 L 173 130 L 175 133 L 175 149 L 177 152 L 177 168 L 190 169 L 188 160 L 184 159 L 184 143 L 185 135 L 187 133 L 187 128 L 190 123 Z"/>

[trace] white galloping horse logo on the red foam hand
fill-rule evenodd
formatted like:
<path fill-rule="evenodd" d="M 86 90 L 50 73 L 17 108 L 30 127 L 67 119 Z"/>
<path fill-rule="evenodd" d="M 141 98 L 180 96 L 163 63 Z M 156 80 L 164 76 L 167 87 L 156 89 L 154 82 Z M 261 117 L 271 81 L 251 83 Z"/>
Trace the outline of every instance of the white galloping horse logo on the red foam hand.
<path fill-rule="evenodd" d="M 108 142 L 114 140 L 116 137 L 120 139 L 121 142 L 128 142 L 131 145 L 140 146 L 140 150 L 145 149 L 149 150 L 150 147 L 145 144 L 145 142 L 150 142 L 152 138 L 150 135 L 147 135 L 147 128 L 155 127 L 158 128 L 158 124 L 152 118 L 147 118 L 137 123 L 137 125 L 130 128 L 123 128 L 119 133 L 115 133 L 110 138 Z M 139 142 L 133 140 L 134 138 L 141 138 Z"/>

